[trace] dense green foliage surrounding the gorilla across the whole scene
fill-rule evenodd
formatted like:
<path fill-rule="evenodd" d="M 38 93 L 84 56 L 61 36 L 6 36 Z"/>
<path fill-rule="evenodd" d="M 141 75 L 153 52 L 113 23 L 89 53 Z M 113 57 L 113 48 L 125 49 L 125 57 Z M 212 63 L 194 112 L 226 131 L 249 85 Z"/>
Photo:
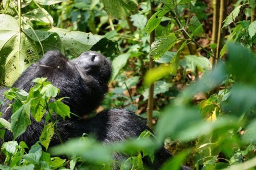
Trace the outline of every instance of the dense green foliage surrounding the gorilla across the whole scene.
<path fill-rule="evenodd" d="M 175 157 L 162 169 L 179 169 L 182 163 L 195 169 L 256 166 L 255 1 L 6 0 L 0 7 L 1 84 L 12 85 L 49 50 L 70 58 L 100 51 L 112 59 L 114 73 L 98 110 L 121 107 L 146 117 L 154 83 L 150 121 L 158 139 L 144 132 L 138 139 L 103 147 L 84 134 L 65 148 L 48 149 L 57 126 L 50 114 L 32 148 L 15 140 L 3 144 L 0 168 L 109 169 L 111 154 L 118 151 L 131 156 L 121 169 L 140 169 L 142 155 L 154 159 L 152 148 L 163 142 Z M 150 57 L 155 68 L 149 67 Z M 34 81 L 29 93 L 5 93 L 4 100 L 16 102 L 13 121 L 0 118 L 1 138 L 5 128 L 14 138 L 23 133 L 30 113 L 40 121 L 42 109 L 69 116 L 61 100 L 48 104 L 58 89 L 46 79 Z M 23 122 L 17 124 L 15 116 Z M 68 159 L 56 157 L 63 154 Z"/>

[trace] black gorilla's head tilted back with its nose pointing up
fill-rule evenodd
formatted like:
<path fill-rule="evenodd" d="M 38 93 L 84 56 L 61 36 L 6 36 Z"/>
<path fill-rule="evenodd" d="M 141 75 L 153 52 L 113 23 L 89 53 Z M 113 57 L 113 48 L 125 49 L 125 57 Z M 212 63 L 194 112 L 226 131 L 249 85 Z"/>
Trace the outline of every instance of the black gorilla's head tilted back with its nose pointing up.
<path fill-rule="evenodd" d="M 29 91 L 33 79 L 47 78 L 60 89 L 58 98 L 68 97 L 62 102 L 72 113 L 82 116 L 100 105 L 111 74 L 111 62 L 97 52 L 85 52 L 69 60 L 58 51 L 50 51 L 24 71 L 13 87 Z"/>

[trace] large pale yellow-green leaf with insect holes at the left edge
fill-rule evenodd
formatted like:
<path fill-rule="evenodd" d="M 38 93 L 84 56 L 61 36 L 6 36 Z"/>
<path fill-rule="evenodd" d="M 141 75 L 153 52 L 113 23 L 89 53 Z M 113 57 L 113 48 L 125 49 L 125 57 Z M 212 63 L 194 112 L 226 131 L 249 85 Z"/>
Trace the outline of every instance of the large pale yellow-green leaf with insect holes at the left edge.
<path fill-rule="evenodd" d="M 0 15 L 0 84 L 11 85 L 19 75 L 38 60 L 38 49 L 10 15 Z"/>

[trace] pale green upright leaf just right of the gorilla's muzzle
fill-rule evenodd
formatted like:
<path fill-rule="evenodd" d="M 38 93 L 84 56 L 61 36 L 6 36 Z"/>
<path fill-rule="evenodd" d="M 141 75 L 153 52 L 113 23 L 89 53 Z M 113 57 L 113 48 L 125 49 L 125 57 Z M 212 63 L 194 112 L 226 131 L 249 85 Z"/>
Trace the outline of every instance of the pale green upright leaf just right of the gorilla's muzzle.
<path fill-rule="evenodd" d="M 117 56 L 113 60 L 113 62 L 112 62 L 112 65 L 113 65 L 112 79 L 113 80 L 116 77 L 116 75 L 118 74 L 119 70 L 125 66 L 125 64 L 127 63 L 127 60 L 129 59 L 130 56 L 131 56 L 130 53 L 125 53 L 125 54 L 121 54 L 121 55 Z"/>

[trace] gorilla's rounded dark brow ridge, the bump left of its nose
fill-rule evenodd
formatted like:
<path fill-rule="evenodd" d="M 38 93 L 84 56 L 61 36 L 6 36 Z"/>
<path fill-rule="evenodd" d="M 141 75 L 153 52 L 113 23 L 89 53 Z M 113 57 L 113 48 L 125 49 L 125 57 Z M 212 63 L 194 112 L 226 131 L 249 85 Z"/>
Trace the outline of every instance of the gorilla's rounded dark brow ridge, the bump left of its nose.
<path fill-rule="evenodd" d="M 42 58 L 39 60 L 39 64 L 48 67 L 56 67 L 60 65 L 66 66 L 68 61 L 69 60 L 59 51 L 49 51 L 42 56 Z"/>

